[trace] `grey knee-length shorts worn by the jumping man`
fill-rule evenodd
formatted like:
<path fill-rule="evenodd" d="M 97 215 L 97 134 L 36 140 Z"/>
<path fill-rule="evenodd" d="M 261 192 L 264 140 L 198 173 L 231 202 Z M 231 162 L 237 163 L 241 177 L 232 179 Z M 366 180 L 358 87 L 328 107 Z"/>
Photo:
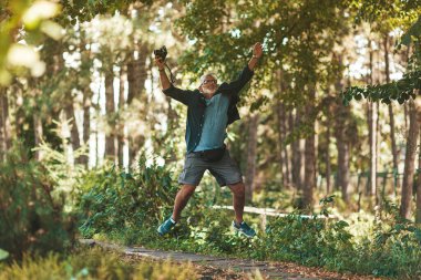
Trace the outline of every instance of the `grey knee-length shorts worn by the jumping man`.
<path fill-rule="evenodd" d="M 184 169 L 178 177 L 178 183 L 197 186 L 206 169 L 210 172 L 219 186 L 234 185 L 243 182 L 238 165 L 229 156 L 228 149 L 226 149 L 224 157 L 215 163 L 203 160 L 199 154 L 188 153 L 184 162 Z"/>

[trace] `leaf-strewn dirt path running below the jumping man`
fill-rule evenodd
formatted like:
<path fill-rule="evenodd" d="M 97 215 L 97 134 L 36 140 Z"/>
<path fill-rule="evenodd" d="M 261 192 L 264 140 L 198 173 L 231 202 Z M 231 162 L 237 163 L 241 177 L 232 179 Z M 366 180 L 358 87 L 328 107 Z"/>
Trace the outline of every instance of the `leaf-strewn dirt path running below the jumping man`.
<path fill-rule="evenodd" d="M 130 262 L 141 259 L 173 262 L 191 262 L 199 273 L 202 280 L 207 279 L 294 279 L 294 280 L 376 280 L 372 276 L 338 273 L 320 268 L 309 268 L 291 262 L 256 261 L 235 258 L 222 258 L 198 253 L 151 250 L 143 247 L 125 247 L 93 239 L 80 239 L 82 245 L 100 246 L 103 249 L 122 252 Z"/>

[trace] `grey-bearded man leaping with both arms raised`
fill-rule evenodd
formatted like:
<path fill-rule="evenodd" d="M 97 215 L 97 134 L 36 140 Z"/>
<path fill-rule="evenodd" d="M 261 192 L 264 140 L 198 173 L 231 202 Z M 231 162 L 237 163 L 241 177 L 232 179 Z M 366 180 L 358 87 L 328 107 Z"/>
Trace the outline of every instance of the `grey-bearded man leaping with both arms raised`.
<path fill-rule="evenodd" d="M 201 183 L 206 169 L 216 178 L 220 186 L 228 186 L 233 191 L 235 220 L 233 228 L 251 238 L 256 231 L 243 220 L 245 205 L 245 186 L 237 164 L 225 149 L 224 139 L 226 127 L 239 120 L 236 107 L 238 94 L 251 79 L 258 60 L 263 55 L 260 43 L 253 46 L 253 58 L 236 81 L 217 84 L 214 74 L 201 77 L 198 90 L 181 90 L 171 84 L 164 69 L 164 62 L 155 58 L 160 70 L 160 79 L 165 95 L 175 98 L 187 108 L 186 144 L 187 153 L 185 165 L 178 183 L 182 188 L 174 203 L 173 215 L 157 229 L 160 235 L 167 234 L 179 220 L 179 216 L 188 199 Z"/>

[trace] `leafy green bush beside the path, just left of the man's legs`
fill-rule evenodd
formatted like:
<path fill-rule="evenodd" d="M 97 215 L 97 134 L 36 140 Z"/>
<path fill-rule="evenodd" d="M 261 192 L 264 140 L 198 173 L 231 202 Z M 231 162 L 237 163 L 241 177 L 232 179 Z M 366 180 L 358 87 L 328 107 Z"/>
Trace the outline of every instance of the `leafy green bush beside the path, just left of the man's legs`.
<path fill-rule="evenodd" d="M 120 228 L 156 225 L 171 212 L 176 184 L 171 172 L 141 156 L 135 172 L 94 170 L 84 176 L 76 207 L 84 237 Z"/>

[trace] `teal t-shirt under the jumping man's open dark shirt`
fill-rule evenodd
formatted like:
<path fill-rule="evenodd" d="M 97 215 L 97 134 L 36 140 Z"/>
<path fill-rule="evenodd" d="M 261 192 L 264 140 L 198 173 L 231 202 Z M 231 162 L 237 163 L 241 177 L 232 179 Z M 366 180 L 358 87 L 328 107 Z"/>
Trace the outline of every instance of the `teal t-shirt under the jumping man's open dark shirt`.
<path fill-rule="evenodd" d="M 216 94 L 210 100 L 205 101 L 206 110 L 202 136 L 194 152 L 222 147 L 227 136 L 229 97 L 225 94 Z"/>

